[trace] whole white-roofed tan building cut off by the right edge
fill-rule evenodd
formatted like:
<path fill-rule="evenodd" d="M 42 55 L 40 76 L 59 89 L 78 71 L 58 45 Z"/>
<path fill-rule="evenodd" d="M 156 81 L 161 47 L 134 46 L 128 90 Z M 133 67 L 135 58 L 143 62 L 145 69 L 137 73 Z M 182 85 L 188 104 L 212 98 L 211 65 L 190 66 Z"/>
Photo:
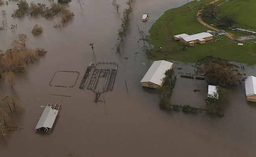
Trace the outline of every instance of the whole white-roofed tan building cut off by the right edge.
<path fill-rule="evenodd" d="M 247 101 L 256 102 L 256 77 L 249 76 L 245 80 L 245 94 Z"/>

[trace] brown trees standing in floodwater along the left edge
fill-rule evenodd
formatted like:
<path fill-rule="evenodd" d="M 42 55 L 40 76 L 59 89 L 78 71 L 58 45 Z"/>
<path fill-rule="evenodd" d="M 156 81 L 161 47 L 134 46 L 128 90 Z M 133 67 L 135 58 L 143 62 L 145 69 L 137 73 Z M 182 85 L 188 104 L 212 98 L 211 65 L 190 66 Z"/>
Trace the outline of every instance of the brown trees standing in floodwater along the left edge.
<path fill-rule="evenodd" d="M 0 76 L 4 76 L 8 80 L 12 89 L 15 84 L 15 73 L 25 71 L 27 63 L 33 62 L 46 53 L 43 48 L 28 49 L 27 41 L 27 35 L 20 34 L 19 40 L 11 42 L 11 49 L 7 49 L 5 53 L 0 50 Z M 11 117 L 22 108 L 18 97 L 14 94 L 7 95 L 2 101 L 4 104 L 0 103 L 0 137 L 5 135 L 7 130 L 15 128 L 12 125 Z"/>

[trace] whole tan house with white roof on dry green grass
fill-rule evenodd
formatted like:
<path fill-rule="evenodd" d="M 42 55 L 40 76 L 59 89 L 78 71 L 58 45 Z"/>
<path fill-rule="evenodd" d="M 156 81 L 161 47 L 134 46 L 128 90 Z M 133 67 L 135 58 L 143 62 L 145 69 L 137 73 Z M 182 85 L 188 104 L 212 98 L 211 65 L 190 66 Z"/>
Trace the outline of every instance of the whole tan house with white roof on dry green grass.
<path fill-rule="evenodd" d="M 174 35 L 175 40 L 179 40 L 180 42 L 187 44 L 189 46 L 195 46 L 195 44 L 205 44 L 208 40 L 213 40 L 213 35 L 208 32 L 197 33 L 193 35 L 187 35 L 185 33 Z"/>

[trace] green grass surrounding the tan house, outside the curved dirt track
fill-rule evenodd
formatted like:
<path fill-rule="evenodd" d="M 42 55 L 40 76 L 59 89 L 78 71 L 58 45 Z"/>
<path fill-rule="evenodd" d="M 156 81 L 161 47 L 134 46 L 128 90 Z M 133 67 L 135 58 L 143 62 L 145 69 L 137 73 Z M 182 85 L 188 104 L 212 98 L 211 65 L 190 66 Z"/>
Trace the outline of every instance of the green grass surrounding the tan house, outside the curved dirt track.
<path fill-rule="evenodd" d="M 253 42 L 245 42 L 244 46 L 237 46 L 237 43 L 231 42 L 226 36 L 223 36 L 223 41 L 189 47 L 173 39 L 173 35 L 176 34 L 193 34 L 209 30 L 197 21 L 196 15 L 201 7 L 211 1 L 193 1 L 165 11 L 149 31 L 150 44 L 154 45 L 154 48 L 148 51 L 148 57 L 151 59 L 197 62 L 198 59 L 204 56 L 212 55 L 239 62 L 238 57 L 241 56 L 242 62 L 249 65 L 256 64 L 256 44 Z M 162 49 L 159 47 L 162 47 Z M 184 47 L 187 47 L 187 50 L 184 50 Z"/>

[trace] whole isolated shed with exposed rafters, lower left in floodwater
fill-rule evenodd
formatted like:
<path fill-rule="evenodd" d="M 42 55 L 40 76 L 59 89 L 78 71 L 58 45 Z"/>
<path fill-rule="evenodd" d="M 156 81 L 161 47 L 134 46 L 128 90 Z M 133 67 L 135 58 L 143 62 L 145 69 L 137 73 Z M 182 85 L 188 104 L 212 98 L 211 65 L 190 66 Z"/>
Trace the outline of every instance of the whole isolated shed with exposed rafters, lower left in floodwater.
<path fill-rule="evenodd" d="M 61 104 L 47 104 L 45 110 L 43 111 L 37 125 L 35 126 L 35 132 L 46 132 L 50 133 L 52 131 L 53 124 L 56 120 L 56 117 L 59 113 Z"/>

